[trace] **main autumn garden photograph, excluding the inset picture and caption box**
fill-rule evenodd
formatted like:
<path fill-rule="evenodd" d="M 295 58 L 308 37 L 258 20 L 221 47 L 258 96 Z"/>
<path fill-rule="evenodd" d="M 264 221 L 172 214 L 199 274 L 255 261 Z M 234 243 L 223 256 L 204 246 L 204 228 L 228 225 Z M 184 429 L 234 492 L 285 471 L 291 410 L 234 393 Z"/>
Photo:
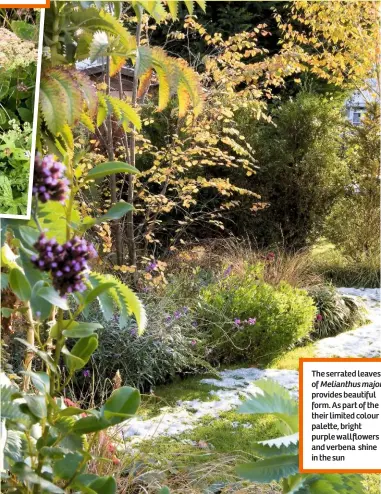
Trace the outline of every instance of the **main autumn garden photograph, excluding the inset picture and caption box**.
<path fill-rule="evenodd" d="M 299 358 L 381 356 L 379 27 L 51 2 L 32 215 L 1 221 L 3 492 L 380 492 L 298 452 Z"/>

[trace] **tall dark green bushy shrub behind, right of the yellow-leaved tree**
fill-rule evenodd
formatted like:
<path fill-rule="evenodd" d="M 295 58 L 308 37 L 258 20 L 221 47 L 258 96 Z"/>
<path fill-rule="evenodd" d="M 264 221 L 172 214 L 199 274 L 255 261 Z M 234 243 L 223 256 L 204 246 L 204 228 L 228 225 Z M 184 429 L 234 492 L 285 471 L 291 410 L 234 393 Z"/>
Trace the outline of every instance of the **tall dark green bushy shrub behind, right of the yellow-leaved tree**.
<path fill-rule="evenodd" d="M 252 186 L 267 207 L 249 222 L 236 218 L 241 232 L 260 245 L 292 250 L 321 234 L 344 170 L 341 107 L 341 101 L 302 92 L 273 111 L 273 123 L 258 124 L 252 117 L 244 124 L 259 167 Z"/>

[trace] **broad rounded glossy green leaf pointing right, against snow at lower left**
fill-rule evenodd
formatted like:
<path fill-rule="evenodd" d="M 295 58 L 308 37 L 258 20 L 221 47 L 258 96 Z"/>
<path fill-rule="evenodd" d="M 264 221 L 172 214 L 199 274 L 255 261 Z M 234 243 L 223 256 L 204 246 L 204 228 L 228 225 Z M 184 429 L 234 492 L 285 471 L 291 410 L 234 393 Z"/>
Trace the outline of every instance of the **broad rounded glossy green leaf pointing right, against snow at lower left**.
<path fill-rule="evenodd" d="M 112 393 L 101 408 L 101 413 L 112 425 L 116 425 L 135 415 L 139 405 L 139 391 L 123 386 Z"/>

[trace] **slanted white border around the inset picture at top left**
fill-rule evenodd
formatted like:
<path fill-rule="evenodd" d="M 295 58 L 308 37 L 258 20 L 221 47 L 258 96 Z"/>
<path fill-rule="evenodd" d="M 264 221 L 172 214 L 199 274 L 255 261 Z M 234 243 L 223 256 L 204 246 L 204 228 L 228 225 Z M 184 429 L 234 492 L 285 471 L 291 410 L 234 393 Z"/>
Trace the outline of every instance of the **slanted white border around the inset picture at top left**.
<path fill-rule="evenodd" d="M 40 80 L 41 80 L 42 49 L 43 49 L 43 40 L 44 40 L 44 24 L 45 24 L 45 9 L 41 9 L 40 26 L 39 26 L 39 33 L 38 33 L 37 71 L 36 71 L 36 85 L 35 85 L 35 91 L 34 91 L 32 147 L 30 150 L 27 210 L 26 210 L 26 214 L 1 214 L 0 213 L 0 219 L 3 218 L 3 219 L 15 219 L 15 220 L 29 220 L 30 216 L 31 216 L 34 158 L 35 158 L 35 154 L 36 154 L 38 104 L 40 101 Z"/>

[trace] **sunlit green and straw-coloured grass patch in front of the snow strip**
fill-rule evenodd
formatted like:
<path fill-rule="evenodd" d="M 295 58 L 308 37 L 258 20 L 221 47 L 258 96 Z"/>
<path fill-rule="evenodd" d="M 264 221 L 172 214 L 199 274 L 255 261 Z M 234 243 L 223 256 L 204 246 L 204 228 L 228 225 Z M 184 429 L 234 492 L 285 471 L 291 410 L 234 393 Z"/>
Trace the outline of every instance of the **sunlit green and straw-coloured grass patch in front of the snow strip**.
<path fill-rule="evenodd" d="M 218 418 L 206 416 L 199 426 L 180 436 L 144 441 L 139 444 L 139 451 L 145 463 L 164 473 L 171 492 L 201 494 L 217 482 L 220 492 L 229 492 L 222 490 L 223 486 L 238 485 L 236 465 L 253 459 L 252 444 L 278 432 L 271 417 L 243 416 L 230 411 Z M 241 483 L 242 488 L 244 485 Z"/>

